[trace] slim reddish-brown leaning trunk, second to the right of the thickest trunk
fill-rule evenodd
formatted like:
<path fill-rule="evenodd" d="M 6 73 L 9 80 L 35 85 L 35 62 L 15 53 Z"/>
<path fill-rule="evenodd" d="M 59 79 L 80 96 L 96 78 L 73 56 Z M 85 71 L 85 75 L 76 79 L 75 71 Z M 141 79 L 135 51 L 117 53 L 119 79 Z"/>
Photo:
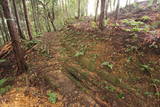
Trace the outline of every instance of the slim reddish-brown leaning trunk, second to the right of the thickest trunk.
<path fill-rule="evenodd" d="M 29 20 L 28 20 L 28 14 L 27 14 L 27 8 L 26 8 L 26 0 L 22 0 L 22 4 L 23 4 L 23 9 L 24 9 L 24 15 L 25 15 L 25 20 L 26 20 L 29 39 L 32 40 L 32 33 L 31 33 L 31 28 L 30 28 L 30 24 L 29 24 Z"/>

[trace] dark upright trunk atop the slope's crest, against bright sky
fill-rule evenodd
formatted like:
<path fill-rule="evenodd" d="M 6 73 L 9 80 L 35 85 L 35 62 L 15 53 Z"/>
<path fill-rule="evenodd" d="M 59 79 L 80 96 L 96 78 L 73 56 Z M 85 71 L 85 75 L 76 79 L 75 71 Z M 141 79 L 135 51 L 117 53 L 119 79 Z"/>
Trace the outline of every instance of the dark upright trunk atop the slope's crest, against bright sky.
<path fill-rule="evenodd" d="M 105 2 L 106 2 L 106 0 L 101 0 L 101 14 L 100 14 L 100 18 L 99 18 L 99 28 L 101 30 L 103 30 L 103 28 L 104 28 Z"/>

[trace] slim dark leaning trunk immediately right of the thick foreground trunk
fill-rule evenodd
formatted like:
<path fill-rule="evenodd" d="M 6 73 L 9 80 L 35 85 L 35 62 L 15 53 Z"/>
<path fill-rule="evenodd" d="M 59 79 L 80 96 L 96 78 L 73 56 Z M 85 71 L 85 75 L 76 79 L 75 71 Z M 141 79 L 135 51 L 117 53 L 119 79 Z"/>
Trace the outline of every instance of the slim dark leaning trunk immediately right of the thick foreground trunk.
<path fill-rule="evenodd" d="M 13 7 L 14 7 L 14 12 L 15 12 L 15 16 L 16 16 L 16 21 L 17 21 L 17 26 L 18 26 L 18 32 L 19 32 L 19 35 L 22 39 L 25 39 L 23 33 L 22 33 L 22 30 L 21 30 L 21 27 L 20 27 L 20 23 L 19 23 L 19 17 L 18 17 L 18 13 L 17 13 L 17 8 L 16 8 L 16 3 L 15 3 L 15 0 L 13 0 Z"/>

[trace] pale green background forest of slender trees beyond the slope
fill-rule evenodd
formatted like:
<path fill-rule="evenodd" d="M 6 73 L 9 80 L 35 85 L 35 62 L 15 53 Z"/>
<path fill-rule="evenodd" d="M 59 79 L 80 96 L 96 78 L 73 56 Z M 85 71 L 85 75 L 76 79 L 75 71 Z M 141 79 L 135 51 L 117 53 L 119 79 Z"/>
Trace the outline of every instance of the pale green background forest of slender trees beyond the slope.
<path fill-rule="evenodd" d="M 142 1 L 142 0 L 140 0 Z M 43 32 L 56 31 L 75 18 L 83 16 L 95 16 L 100 12 L 100 2 L 96 0 L 11 0 L 9 5 L 13 14 L 12 20 L 17 22 L 17 28 L 21 38 L 27 38 L 28 32 L 31 36 L 38 36 Z M 138 0 L 108 0 L 105 2 L 105 13 L 115 11 L 116 8 L 135 4 Z M 155 0 L 149 0 L 151 5 Z M 25 8 L 26 7 L 26 8 Z M 107 17 L 107 16 L 106 16 Z M 26 18 L 28 22 L 26 22 Z M 29 28 L 27 27 L 29 24 Z M 30 29 L 30 31 L 28 31 Z M 29 37 L 28 37 L 29 38 Z M 1 7 L 1 45 L 9 40 L 6 20 Z"/>

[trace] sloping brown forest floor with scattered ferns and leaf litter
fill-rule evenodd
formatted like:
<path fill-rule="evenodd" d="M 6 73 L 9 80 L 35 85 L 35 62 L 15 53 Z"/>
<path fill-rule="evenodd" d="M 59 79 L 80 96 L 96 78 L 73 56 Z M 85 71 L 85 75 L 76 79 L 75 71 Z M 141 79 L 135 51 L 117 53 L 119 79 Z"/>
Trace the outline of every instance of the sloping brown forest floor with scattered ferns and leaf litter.
<path fill-rule="evenodd" d="M 159 17 L 144 9 L 103 31 L 85 19 L 45 33 L 0 107 L 160 107 Z"/>

